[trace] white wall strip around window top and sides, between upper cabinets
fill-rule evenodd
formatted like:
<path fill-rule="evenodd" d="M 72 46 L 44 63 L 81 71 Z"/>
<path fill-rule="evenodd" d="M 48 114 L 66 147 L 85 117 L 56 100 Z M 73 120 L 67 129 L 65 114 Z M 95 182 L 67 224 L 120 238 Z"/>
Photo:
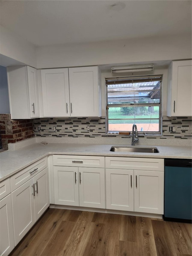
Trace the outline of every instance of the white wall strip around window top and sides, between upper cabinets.
<path fill-rule="evenodd" d="M 147 75 L 163 75 L 163 81 L 162 81 L 162 116 L 167 115 L 167 71 L 168 67 L 154 67 L 154 70 L 151 72 L 146 72 Z M 137 75 L 146 75 L 143 74 L 145 72 L 135 72 L 133 73 L 133 76 Z M 132 75 L 132 74 L 131 74 Z M 101 71 L 101 90 L 102 90 L 102 116 L 105 116 L 106 113 L 106 86 L 105 86 L 105 78 L 109 77 L 126 77 L 131 76 L 130 73 L 123 73 L 121 75 L 119 74 L 112 74 L 111 70 L 102 70 Z"/>

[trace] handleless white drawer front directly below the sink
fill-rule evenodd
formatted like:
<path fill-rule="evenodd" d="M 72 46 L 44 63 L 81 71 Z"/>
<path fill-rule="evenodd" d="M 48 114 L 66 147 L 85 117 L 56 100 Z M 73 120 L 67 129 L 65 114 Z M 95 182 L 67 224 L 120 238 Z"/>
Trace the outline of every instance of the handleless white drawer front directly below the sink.
<path fill-rule="evenodd" d="M 164 171 L 164 159 L 106 157 L 105 167 L 111 169 Z"/>

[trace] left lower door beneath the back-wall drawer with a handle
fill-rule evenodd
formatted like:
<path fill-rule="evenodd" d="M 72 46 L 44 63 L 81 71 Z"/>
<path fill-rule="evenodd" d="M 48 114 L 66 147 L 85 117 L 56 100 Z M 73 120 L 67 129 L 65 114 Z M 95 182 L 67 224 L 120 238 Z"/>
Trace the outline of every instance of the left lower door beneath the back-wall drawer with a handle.
<path fill-rule="evenodd" d="M 55 204 L 79 206 L 78 167 L 53 166 Z"/>

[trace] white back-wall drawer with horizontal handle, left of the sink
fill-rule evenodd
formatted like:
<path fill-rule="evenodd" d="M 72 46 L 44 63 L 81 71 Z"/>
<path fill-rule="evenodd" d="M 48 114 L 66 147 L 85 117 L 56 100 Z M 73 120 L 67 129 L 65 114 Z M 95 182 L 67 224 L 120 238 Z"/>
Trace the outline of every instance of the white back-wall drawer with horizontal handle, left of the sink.
<path fill-rule="evenodd" d="M 53 155 L 53 165 L 104 168 L 104 156 Z"/>

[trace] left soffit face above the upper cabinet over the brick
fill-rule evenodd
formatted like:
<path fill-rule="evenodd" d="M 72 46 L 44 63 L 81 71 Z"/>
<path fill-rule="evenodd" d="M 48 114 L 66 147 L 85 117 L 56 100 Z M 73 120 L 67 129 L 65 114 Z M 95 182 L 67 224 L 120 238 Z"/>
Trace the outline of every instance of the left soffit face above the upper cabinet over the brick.
<path fill-rule="evenodd" d="M 0 27 L 0 53 L 18 62 L 37 67 L 35 46 L 13 34 L 4 27 Z M 2 64 L 1 64 L 2 65 Z"/>

